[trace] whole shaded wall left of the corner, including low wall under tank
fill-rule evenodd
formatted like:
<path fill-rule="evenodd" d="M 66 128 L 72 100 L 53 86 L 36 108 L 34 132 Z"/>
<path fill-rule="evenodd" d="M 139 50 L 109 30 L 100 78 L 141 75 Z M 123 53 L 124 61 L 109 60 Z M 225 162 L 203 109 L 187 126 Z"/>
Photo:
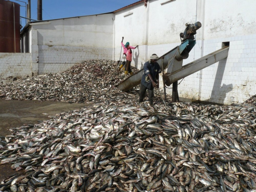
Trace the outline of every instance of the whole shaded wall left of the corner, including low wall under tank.
<path fill-rule="evenodd" d="M 113 59 L 113 20 L 113 14 L 101 14 L 32 23 L 22 37 L 26 53 L 0 53 L 0 83 Z"/>

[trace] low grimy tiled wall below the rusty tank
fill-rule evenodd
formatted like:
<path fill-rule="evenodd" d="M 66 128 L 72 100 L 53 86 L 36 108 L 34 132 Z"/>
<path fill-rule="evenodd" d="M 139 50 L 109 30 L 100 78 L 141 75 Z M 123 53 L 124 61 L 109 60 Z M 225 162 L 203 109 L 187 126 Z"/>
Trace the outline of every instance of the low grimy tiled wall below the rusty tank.
<path fill-rule="evenodd" d="M 0 85 L 31 77 L 31 53 L 0 53 Z"/>

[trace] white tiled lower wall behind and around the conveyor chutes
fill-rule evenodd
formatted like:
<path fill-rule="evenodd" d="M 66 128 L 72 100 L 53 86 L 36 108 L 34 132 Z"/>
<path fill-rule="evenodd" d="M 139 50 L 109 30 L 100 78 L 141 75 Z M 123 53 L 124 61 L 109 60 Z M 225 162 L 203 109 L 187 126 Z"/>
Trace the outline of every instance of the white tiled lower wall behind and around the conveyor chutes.
<path fill-rule="evenodd" d="M 202 69 L 202 79 L 200 79 L 200 71 L 198 71 L 182 81 L 179 80 L 180 97 L 231 104 L 243 102 L 256 94 L 256 34 L 205 40 L 203 48 L 202 42 L 197 41 L 189 53 L 189 58 L 183 60 L 183 66 L 200 58 L 201 55 L 205 56 L 219 50 L 222 47 L 222 42 L 230 42 L 227 59 Z M 173 44 L 170 46 L 155 45 L 150 46 L 149 50 L 160 56 L 175 46 Z M 166 90 L 167 94 L 171 95 L 171 92 L 171 89 Z"/>

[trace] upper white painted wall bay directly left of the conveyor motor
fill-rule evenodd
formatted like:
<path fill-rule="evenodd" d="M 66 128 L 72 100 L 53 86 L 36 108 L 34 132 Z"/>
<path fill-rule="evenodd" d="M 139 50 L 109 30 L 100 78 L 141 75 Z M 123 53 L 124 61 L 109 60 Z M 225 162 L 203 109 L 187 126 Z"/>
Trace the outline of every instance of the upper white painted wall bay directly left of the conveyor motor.
<path fill-rule="evenodd" d="M 186 23 L 192 23 L 196 17 L 196 0 L 149 1 L 149 37 L 148 45 L 163 45 L 181 42 L 179 34 Z M 151 53 L 149 53 L 151 55 Z"/>

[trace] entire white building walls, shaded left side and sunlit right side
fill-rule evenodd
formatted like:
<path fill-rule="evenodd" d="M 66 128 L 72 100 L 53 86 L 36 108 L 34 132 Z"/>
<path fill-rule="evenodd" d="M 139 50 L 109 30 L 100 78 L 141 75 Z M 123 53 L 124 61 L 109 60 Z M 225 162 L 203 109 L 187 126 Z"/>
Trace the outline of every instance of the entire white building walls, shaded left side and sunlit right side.
<path fill-rule="evenodd" d="M 61 72 L 87 59 L 117 61 L 122 37 L 139 45 L 132 65 L 141 69 L 151 54 L 180 45 L 186 23 L 200 21 L 197 44 L 183 65 L 219 50 L 222 42 L 229 42 L 229 55 L 179 81 L 179 96 L 243 102 L 256 94 L 255 7 L 254 0 L 141 0 L 112 13 L 30 22 L 22 30 L 25 53 L 0 53 L 0 83 Z"/>

